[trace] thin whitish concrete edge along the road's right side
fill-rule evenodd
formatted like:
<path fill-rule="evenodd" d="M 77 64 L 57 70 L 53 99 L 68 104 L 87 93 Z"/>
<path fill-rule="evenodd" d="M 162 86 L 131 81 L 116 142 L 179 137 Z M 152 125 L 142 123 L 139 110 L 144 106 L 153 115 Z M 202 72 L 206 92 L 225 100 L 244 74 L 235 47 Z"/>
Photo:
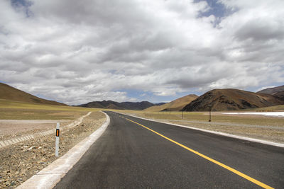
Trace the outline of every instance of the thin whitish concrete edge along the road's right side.
<path fill-rule="evenodd" d="M 118 113 L 118 112 L 116 112 L 116 113 Z M 127 115 L 125 113 L 119 113 L 119 114 Z M 147 119 L 147 118 L 140 118 L 140 117 L 135 116 L 135 115 L 128 115 L 128 116 L 131 116 L 133 118 L 139 118 L 139 119 L 142 119 L 142 120 L 148 120 L 148 121 L 153 121 L 153 122 L 160 122 L 160 121 L 157 121 L 157 120 L 152 120 L 152 119 Z M 196 128 L 196 127 L 189 127 L 189 126 L 185 126 L 185 125 L 178 125 L 178 124 L 174 124 L 174 123 L 170 123 L 170 122 L 160 122 L 160 123 L 165 123 L 165 124 L 168 124 L 168 125 L 174 125 L 174 126 L 178 126 L 178 127 L 185 127 L 185 128 L 190 129 L 190 130 L 199 130 L 199 131 L 202 131 L 202 132 L 209 132 L 209 133 L 212 133 L 212 134 L 219 134 L 219 135 L 222 135 L 222 136 L 225 136 L 225 137 L 231 137 L 231 138 L 235 138 L 235 139 L 243 139 L 243 140 L 250 141 L 250 142 L 258 142 L 258 143 L 261 143 L 261 144 L 267 144 L 267 145 L 271 145 L 271 146 L 274 146 L 274 147 L 284 148 L 284 144 L 282 144 L 282 143 L 270 142 L 270 141 L 262 140 L 262 139 L 253 139 L 253 138 L 249 138 L 249 137 L 241 137 L 241 136 L 238 136 L 238 135 L 228 134 L 228 133 L 225 133 L 225 132 L 203 130 L 203 129 L 199 129 L 199 128 Z"/>

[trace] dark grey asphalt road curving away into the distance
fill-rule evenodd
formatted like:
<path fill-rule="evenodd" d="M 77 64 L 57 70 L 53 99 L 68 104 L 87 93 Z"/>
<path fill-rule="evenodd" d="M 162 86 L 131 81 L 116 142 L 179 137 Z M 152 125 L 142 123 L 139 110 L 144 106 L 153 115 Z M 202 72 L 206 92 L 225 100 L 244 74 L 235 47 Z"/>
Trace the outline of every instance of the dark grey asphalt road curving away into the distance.
<path fill-rule="evenodd" d="M 284 188 L 283 148 L 106 113 L 107 130 L 55 188 Z"/>

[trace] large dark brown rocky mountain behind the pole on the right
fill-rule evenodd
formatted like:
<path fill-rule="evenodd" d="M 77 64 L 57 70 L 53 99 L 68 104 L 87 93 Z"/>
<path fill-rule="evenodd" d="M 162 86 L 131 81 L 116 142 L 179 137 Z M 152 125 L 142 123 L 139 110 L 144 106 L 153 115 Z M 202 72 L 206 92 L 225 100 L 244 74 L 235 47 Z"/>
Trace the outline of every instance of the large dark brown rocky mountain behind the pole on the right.
<path fill-rule="evenodd" d="M 264 93 L 253 93 L 238 89 L 214 89 L 204 93 L 199 98 L 186 105 L 185 111 L 207 111 L 209 105 L 212 111 L 240 110 L 246 108 L 261 108 L 272 105 L 283 105 L 280 98 Z"/>

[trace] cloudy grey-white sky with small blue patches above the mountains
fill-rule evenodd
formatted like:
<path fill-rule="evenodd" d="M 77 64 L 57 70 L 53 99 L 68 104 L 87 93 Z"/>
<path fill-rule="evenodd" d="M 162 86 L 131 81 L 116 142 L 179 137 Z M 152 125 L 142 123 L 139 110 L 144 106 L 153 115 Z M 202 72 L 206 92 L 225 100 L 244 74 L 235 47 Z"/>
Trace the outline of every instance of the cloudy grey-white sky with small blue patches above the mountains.
<path fill-rule="evenodd" d="M 0 82 L 70 105 L 284 84 L 283 0 L 1 0 Z"/>

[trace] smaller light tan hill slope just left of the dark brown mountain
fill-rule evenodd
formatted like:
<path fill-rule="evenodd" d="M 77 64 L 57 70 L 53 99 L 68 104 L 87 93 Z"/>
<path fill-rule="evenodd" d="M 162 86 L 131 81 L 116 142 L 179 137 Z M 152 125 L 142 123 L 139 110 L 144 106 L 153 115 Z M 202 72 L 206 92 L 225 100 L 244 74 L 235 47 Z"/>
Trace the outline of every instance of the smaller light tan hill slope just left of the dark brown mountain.
<path fill-rule="evenodd" d="M 147 108 L 147 111 L 180 111 L 185 105 L 190 103 L 191 101 L 198 98 L 195 94 L 190 94 L 187 96 L 183 96 L 182 98 L 178 98 L 175 101 L 171 101 L 170 103 L 165 103 L 163 105 L 154 105 L 150 108 Z"/>

